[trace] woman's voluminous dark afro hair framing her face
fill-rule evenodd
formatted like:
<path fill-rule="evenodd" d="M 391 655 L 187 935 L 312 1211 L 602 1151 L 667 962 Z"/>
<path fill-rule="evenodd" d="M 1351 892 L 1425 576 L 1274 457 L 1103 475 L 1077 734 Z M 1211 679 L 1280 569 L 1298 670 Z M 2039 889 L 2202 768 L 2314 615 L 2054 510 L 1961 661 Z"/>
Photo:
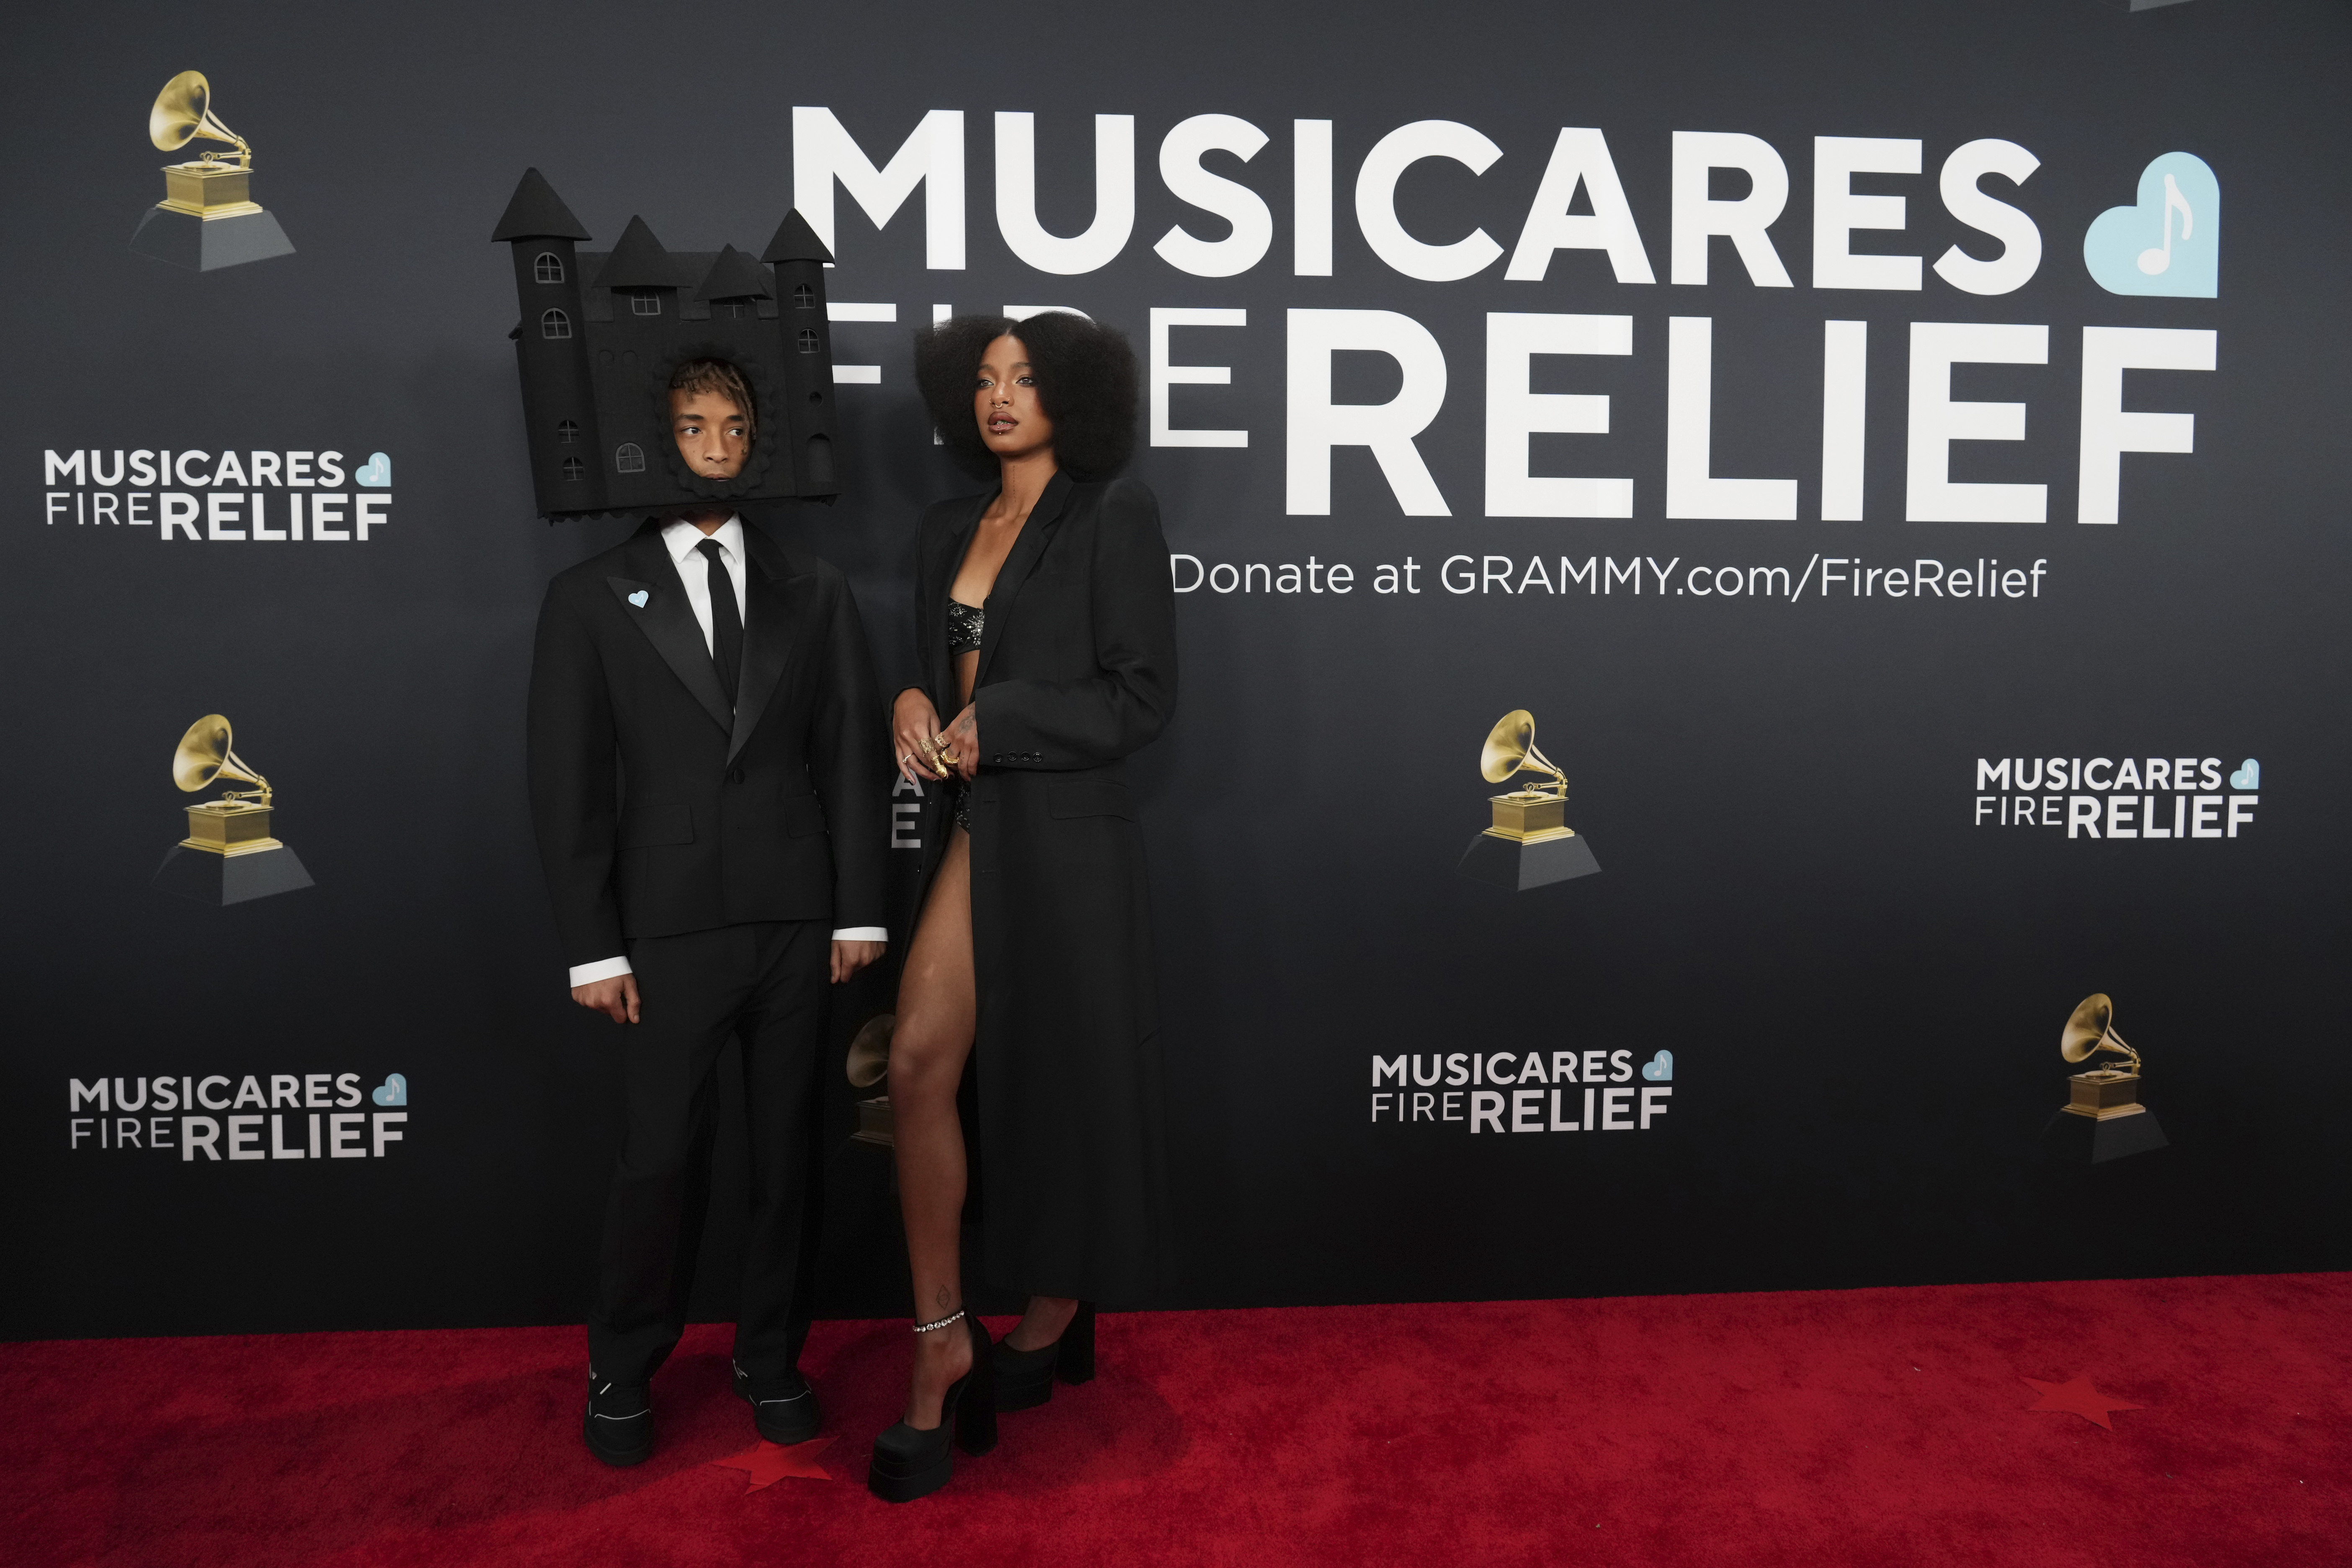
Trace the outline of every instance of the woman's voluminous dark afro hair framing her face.
<path fill-rule="evenodd" d="M 1037 402 L 1054 421 L 1054 461 L 1073 480 L 1108 480 L 1136 449 L 1136 350 L 1127 339 L 1070 310 L 1023 322 L 1004 315 L 957 315 L 915 334 L 915 386 L 955 465 L 976 480 L 997 475 L 997 454 L 971 414 L 981 355 L 1002 336 L 1018 339 L 1037 376 Z"/>

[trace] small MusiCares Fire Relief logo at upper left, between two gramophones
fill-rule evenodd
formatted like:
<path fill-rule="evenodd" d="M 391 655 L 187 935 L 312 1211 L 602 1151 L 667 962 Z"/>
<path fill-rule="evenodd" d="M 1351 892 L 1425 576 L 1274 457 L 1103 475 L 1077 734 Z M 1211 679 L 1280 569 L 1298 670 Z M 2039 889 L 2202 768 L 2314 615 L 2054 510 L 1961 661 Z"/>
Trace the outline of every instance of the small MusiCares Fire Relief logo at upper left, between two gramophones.
<path fill-rule="evenodd" d="M 155 529 L 186 543 L 372 543 L 393 522 L 393 458 L 200 447 L 40 454 L 47 527 Z"/>

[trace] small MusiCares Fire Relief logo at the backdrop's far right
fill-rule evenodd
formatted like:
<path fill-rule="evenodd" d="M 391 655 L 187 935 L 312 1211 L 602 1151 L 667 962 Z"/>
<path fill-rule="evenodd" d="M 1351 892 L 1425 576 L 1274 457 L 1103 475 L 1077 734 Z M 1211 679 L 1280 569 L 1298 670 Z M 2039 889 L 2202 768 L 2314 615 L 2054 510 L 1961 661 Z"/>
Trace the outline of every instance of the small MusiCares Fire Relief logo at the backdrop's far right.
<path fill-rule="evenodd" d="M 2065 827 L 2070 839 L 2234 839 L 2263 804 L 2246 757 L 1978 757 L 1978 827 Z M 2227 788 L 2225 788 L 2227 785 Z"/>

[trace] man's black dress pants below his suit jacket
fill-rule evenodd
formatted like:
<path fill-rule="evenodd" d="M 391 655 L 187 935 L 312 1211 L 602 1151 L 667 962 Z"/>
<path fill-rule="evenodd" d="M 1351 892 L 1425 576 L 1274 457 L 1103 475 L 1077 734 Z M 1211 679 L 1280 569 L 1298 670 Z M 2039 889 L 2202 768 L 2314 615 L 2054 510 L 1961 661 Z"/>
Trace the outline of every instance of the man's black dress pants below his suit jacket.
<path fill-rule="evenodd" d="M 588 1312 L 588 1363 L 600 1380 L 647 1382 L 687 1328 L 729 1037 L 743 1046 L 750 1131 L 736 1363 L 776 1378 L 800 1359 L 823 1197 L 816 1072 L 830 952 L 830 924 L 818 919 L 628 943 L 642 1006 L 640 1023 L 621 1030 L 628 1131 Z"/>

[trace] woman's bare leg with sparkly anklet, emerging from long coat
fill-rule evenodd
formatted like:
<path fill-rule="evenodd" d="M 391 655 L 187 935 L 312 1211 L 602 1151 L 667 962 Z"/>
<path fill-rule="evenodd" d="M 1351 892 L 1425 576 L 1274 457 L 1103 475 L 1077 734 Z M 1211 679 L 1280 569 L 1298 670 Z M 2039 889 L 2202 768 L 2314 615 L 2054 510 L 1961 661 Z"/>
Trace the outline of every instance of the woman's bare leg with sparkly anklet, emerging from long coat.
<path fill-rule="evenodd" d="M 898 1025 L 889 1044 L 889 1107 L 898 1159 L 898 1213 L 915 1274 L 915 1321 L 929 1324 L 964 1305 L 964 1126 L 955 1088 L 971 1056 L 978 994 L 971 976 L 971 835 L 950 830 L 948 853 L 915 924 L 898 980 Z M 964 1326 L 915 1335 L 915 1378 L 906 1425 L 938 1427 L 948 1385 L 971 1368 Z"/>

